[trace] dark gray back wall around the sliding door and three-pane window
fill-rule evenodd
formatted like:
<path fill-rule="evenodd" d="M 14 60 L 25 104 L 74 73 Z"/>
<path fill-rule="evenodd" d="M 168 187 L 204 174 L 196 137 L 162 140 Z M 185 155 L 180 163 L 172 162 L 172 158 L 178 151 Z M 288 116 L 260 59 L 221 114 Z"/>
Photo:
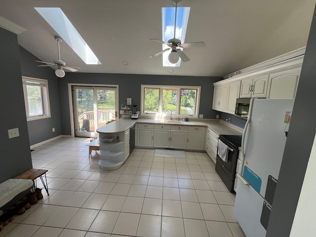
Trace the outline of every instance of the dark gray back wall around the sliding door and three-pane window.
<path fill-rule="evenodd" d="M 100 73 L 66 73 L 59 79 L 59 101 L 62 123 L 62 134 L 71 135 L 70 111 L 68 104 L 68 83 L 118 84 L 119 105 L 132 98 L 132 104 L 140 106 L 141 84 L 151 85 L 195 85 L 201 86 L 199 114 L 203 118 L 216 118 L 212 110 L 213 82 L 222 77 L 183 77 L 131 74 L 100 74 Z"/>

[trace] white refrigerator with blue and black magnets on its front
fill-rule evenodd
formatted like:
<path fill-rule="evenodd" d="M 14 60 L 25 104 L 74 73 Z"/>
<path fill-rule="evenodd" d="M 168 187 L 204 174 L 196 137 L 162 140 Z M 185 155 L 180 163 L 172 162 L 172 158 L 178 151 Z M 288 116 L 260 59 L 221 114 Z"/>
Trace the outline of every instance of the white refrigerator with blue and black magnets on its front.
<path fill-rule="evenodd" d="M 234 209 L 247 237 L 266 236 L 293 105 L 293 99 L 251 99 Z"/>

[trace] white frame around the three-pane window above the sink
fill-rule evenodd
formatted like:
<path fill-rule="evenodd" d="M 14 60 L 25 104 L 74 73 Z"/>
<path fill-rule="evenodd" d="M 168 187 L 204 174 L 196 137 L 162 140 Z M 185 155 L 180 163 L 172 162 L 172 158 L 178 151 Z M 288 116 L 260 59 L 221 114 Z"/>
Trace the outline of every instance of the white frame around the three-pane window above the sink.
<path fill-rule="evenodd" d="M 158 113 L 156 112 L 145 112 L 144 111 L 144 106 L 145 106 L 145 89 L 150 88 L 150 89 L 159 89 L 159 106 L 158 106 Z M 192 86 L 192 85 L 141 85 L 141 110 L 140 110 L 140 115 L 144 117 L 152 117 L 152 116 L 159 116 L 159 115 L 165 115 L 165 111 L 162 111 L 162 91 L 164 89 L 172 89 L 172 90 L 177 90 L 177 111 L 172 111 L 173 113 L 178 113 L 179 118 L 198 118 L 198 112 L 199 112 L 199 101 L 200 101 L 200 91 L 201 91 L 201 86 Z M 187 89 L 187 90 L 197 90 L 197 95 L 196 95 L 196 110 L 195 114 L 193 115 L 188 115 L 188 114 L 180 114 L 180 107 L 181 107 L 181 90 L 182 89 Z"/>

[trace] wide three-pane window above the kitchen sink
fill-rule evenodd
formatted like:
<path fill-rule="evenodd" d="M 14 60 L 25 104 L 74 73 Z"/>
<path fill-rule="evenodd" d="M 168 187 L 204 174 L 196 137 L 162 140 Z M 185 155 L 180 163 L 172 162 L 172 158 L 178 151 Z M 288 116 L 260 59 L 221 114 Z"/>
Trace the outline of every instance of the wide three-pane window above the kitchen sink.
<path fill-rule="evenodd" d="M 200 86 L 141 85 L 141 115 L 165 114 L 170 109 L 180 117 L 197 117 Z"/>

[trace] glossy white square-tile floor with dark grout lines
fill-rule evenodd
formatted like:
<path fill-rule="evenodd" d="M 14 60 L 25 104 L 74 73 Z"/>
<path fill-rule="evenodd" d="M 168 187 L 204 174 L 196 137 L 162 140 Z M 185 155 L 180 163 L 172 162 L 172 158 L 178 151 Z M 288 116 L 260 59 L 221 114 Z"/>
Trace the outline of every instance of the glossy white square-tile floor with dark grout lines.
<path fill-rule="evenodd" d="M 135 149 L 107 171 L 88 158 L 87 138 L 61 138 L 32 152 L 48 169 L 50 195 L 16 216 L 0 237 L 244 237 L 234 217 L 235 196 L 206 153 L 154 157 Z M 40 187 L 40 181 L 38 181 Z"/>

